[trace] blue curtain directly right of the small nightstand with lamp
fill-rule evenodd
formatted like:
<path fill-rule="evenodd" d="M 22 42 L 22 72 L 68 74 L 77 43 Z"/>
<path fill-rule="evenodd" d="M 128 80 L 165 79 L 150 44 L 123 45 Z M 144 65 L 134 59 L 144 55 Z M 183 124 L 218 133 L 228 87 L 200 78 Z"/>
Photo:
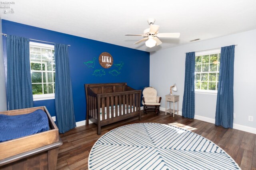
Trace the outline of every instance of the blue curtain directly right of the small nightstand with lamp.
<path fill-rule="evenodd" d="M 195 116 L 195 58 L 195 52 L 186 53 L 182 116 L 189 119 Z"/>

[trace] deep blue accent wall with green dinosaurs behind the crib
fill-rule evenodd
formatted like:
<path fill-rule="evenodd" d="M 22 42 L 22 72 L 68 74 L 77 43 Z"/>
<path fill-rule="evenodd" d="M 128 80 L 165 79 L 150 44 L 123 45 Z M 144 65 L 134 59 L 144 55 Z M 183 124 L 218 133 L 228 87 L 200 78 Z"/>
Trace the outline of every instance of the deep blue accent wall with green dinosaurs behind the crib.
<path fill-rule="evenodd" d="M 72 29 L 72 25 L 69 27 Z M 86 28 L 84 28 L 84 31 L 86 31 Z M 70 76 L 72 81 L 76 121 L 85 120 L 86 117 L 86 97 L 84 84 L 127 82 L 128 86 L 136 90 L 142 90 L 145 86 L 149 86 L 150 53 L 148 52 L 7 20 L 2 20 L 2 32 L 9 35 L 18 35 L 30 39 L 71 45 L 71 47 L 69 47 Z M 3 46 L 5 58 L 4 64 L 6 69 L 6 37 L 4 36 Z M 114 59 L 114 64 L 119 64 L 121 61 L 124 62 L 122 69 L 118 70 L 118 68 L 114 65 L 108 69 L 102 68 L 98 62 L 98 57 L 102 52 L 110 53 Z M 84 62 L 92 61 L 94 57 L 96 57 L 94 68 L 88 68 Z M 92 75 L 96 69 L 104 69 L 106 74 L 102 76 Z M 118 70 L 120 74 L 113 76 L 112 74 L 108 73 L 110 70 L 114 69 Z M 51 116 L 56 115 L 54 100 L 34 101 L 34 107 L 36 106 L 46 106 Z"/>

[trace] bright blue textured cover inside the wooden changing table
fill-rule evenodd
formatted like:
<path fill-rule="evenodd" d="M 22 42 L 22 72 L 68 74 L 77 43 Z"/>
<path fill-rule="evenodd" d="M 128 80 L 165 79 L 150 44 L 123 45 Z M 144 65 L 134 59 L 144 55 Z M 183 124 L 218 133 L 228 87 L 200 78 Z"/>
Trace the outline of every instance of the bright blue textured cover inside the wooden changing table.
<path fill-rule="evenodd" d="M 0 142 L 48 130 L 48 117 L 42 109 L 24 115 L 0 114 Z"/>

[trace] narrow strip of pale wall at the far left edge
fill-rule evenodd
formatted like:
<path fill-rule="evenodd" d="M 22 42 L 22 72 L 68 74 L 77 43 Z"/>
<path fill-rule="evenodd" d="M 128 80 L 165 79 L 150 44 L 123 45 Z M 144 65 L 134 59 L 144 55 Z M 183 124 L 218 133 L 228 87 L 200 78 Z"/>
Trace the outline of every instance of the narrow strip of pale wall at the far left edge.
<path fill-rule="evenodd" d="M 2 34 L 2 20 L 0 18 L 0 35 Z M 0 111 L 6 111 L 6 87 L 5 87 L 5 74 L 4 74 L 4 52 L 3 52 L 3 39 L 0 37 Z"/>

